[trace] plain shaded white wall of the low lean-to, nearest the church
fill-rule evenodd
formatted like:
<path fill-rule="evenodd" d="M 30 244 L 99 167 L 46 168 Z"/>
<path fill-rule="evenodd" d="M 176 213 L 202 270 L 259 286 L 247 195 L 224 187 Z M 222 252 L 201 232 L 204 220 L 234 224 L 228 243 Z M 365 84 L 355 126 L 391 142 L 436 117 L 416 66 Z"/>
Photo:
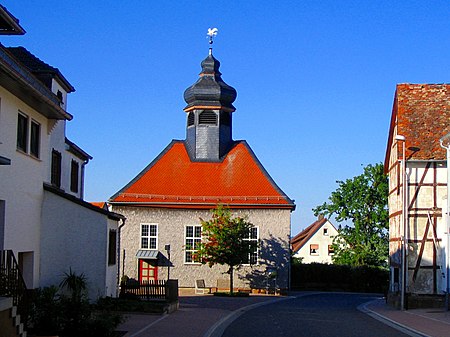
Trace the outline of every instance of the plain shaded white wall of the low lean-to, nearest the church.
<path fill-rule="evenodd" d="M 117 223 L 48 191 L 42 223 L 40 286 L 58 285 L 72 268 L 87 277 L 90 299 L 116 293 L 117 266 L 107 266 L 107 253 L 109 229 Z"/>

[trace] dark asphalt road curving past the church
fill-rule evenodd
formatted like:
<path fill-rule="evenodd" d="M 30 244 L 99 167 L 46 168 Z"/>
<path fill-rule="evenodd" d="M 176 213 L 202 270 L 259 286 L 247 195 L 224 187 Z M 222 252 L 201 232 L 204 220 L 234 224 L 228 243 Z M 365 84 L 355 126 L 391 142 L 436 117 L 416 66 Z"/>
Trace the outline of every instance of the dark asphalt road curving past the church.
<path fill-rule="evenodd" d="M 244 313 L 223 337 L 407 336 L 357 309 L 373 299 L 365 294 L 323 293 L 277 302 Z"/>

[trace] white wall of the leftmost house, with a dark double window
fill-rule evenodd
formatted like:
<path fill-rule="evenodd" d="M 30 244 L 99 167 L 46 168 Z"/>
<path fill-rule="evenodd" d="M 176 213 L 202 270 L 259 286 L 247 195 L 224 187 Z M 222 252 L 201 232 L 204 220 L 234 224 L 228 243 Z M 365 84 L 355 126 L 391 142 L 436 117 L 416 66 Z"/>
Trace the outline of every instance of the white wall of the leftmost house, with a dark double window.
<path fill-rule="evenodd" d="M 11 159 L 11 165 L 0 167 L 0 199 L 5 200 L 4 249 L 33 252 L 39 259 L 40 215 L 43 197 L 42 182 L 48 162 L 47 119 L 0 87 L 0 154 Z M 16 150 L 19 110 L 41 125 L 40 158 Z M 39 266 L 24 271 L 36 287 Z"/>

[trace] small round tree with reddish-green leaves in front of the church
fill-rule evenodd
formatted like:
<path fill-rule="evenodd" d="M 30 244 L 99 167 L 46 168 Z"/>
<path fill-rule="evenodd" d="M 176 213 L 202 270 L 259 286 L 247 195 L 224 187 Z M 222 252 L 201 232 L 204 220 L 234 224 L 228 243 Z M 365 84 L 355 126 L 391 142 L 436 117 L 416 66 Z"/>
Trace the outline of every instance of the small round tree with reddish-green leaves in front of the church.
<path fill-rule="evenodd" d="M 230 292 L 233 293 L 233 272 L 243 263 L 249 262 L 249 254 L 255 247 L 246 238 L 253 224 L 242 217 L 232 217 L 231 211 L 221 205 L 212 210 L 212 217 L 202 224 L 202 242 L 194 258 L 212 267 L 228 265 Z"/>

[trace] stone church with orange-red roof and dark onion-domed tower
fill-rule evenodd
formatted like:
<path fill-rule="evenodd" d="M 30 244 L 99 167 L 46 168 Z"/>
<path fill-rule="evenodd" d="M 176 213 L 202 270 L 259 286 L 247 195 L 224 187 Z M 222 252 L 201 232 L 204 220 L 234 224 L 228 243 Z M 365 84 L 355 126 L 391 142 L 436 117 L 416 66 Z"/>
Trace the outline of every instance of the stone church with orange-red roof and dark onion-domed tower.
<path fill-rule="evenodd" d="M 258 242 L 248 264 L 235 272 L 239 289 L 289 288 L 291 200 L 273 181 L 245 140 L 233 140 L 236 90 L 226 84 L 212 48 L 199 79 L 184 92 L 186 139 L 170 144 L 108 201 L 126 217 L 120 232 L 121 275 L 139 280 L 196 280 L 216 287 L 227 266 L 195 261 L 200 218 L 217 205 L 245 217 Z M 270 277 L 269 279 L 269 275 Z M 273 277 L 276 275 L 276 277 Z"/>

